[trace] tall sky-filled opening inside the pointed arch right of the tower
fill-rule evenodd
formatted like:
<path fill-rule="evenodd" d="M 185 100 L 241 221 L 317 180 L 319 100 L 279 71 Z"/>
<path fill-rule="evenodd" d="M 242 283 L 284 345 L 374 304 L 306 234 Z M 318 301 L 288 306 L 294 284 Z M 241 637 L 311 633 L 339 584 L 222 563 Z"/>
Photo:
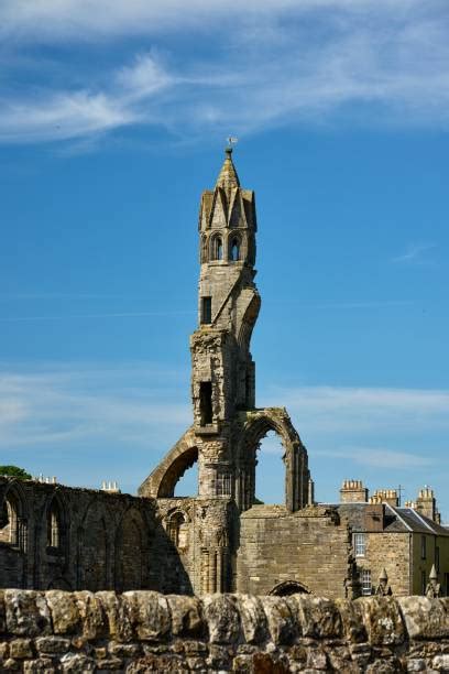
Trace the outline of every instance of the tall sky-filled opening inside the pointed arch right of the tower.
<path fill-rule="evenodd" d="M 284 454 L 281 438 L 270 431 L 256 452 L 254 503 L 285 503 Z"/>

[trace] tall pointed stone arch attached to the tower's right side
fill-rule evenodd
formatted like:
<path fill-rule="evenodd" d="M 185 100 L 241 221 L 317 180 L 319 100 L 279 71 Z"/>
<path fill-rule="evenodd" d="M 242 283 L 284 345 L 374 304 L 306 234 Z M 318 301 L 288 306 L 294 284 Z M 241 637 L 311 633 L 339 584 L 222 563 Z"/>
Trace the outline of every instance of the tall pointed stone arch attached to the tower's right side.
<path fill-rule="evenodd" d="M 285 506 L 291 512 L 307 506 L 307 452 L 284 407 L 265 407 L 247 413 L 239 447 L 239 475 L 236 494 L 239 508 L 248 510 L 255 496 L 256 450 L 263 437 L 274 431 L 284 446 Z"/>

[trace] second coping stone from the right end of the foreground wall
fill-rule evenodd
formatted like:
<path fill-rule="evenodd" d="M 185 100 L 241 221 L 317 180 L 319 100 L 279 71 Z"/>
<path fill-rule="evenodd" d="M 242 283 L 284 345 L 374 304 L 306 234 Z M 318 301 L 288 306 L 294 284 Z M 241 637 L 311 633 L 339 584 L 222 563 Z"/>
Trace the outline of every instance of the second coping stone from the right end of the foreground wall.
<path fill-rule="evenodd" d="M 369 641 L 373 645 L 403 643 L 405 629 L 397 602 L 391 597 L 357 599 L 363 609 Z"/>

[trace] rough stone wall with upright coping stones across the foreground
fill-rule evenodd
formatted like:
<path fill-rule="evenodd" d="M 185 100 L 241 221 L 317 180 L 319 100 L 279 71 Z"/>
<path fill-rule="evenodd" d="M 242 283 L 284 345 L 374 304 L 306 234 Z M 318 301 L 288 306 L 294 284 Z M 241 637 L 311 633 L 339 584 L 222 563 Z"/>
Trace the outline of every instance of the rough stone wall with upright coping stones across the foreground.
<path fill-rule="evenodd" d="M 448 672 L 449 599 L 0 590 L 0 670 Z"/>

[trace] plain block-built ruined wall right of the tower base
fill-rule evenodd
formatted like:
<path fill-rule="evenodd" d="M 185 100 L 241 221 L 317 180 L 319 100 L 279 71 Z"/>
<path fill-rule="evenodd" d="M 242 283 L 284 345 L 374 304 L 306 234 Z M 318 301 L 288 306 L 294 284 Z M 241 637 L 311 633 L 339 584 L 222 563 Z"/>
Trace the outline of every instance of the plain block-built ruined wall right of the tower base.
<path fill-rule="evenodd" d="M 283 506 L 253 506 L 240 519 L 238 591 L 267 595 L 296 581 L 326 597 L 349 591 L 350 535 L 325 508 L 288 513 Z"/>

